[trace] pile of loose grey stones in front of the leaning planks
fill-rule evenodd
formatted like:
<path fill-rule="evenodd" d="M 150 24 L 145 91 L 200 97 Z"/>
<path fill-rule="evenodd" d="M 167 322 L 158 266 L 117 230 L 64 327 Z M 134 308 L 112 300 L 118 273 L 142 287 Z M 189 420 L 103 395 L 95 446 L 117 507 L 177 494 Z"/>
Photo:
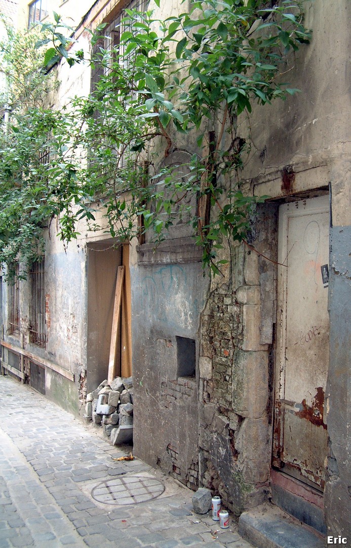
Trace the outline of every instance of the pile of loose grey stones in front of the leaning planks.
<path fill-rule="evenodd" d="M 101 425 L 113 445 L 133 441 L 133 379 L 107 380 L 86 395 L 85 417 Z"/>

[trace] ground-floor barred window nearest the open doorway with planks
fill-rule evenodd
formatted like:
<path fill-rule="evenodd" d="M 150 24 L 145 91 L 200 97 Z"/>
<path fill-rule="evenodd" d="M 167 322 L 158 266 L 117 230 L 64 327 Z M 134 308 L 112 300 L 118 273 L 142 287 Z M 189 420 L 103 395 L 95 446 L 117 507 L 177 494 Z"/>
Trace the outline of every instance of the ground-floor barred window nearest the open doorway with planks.
<path fill-rule="evenodd" d="M 45 329 L 45 261 L 33 262 L 30 271 L 30 341 L 38 346 L 46 345 Z"/>

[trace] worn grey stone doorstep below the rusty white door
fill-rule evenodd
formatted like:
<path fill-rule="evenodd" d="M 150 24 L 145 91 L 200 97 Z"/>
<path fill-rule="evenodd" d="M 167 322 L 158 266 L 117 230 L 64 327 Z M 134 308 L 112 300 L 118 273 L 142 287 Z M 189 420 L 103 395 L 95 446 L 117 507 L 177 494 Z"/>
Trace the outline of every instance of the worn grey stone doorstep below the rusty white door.
<path fill-rule="evenodd" d="M 325 538 L 273 504 L 239 517 L 239 535 L 257 548 L 324 548 Z"/>

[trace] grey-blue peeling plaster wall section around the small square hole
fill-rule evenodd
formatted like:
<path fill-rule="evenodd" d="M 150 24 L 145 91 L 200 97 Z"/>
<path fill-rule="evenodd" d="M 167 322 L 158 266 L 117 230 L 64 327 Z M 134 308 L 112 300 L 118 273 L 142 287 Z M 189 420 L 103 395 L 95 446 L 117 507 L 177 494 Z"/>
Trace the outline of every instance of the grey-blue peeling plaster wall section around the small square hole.
<path fill-rule="evenodd" d="M 195 340 L 198 349 L 198 319 L 208 279 L 198 262 L 138 266 L 135 259 L 131 265 L 134 454 L 194 489 L 198 366 L 195 376 L 178 375 L 177 337 Z"/>

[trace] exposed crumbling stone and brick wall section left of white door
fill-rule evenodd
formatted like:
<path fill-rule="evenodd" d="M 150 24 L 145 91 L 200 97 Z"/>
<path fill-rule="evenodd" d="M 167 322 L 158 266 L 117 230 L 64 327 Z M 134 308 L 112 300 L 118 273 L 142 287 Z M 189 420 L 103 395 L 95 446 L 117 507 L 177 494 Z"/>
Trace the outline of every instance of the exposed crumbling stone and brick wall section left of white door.
<path fill-rule="evenodd" d="M 276 206 L 258 210 L 251 244 L 276 259 Z M 268 492 L 275 265 L 248 246 L 201 318 L 200 481 L 239 515 Z"/>

